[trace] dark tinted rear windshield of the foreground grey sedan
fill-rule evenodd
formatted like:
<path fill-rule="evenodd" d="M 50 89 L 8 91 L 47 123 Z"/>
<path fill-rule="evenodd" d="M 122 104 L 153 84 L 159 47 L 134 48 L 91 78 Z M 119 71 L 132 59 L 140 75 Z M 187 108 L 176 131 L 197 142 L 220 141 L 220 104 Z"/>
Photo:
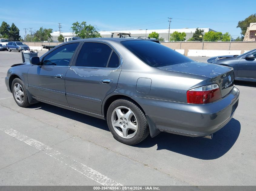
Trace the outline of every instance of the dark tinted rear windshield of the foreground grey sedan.
<path fill-rule="evenodd" d="M 162 67 L 193 61 L 173 49 L 148 40 L 128 40 L 122 41 L 121 44 L 152 67 Z"/>

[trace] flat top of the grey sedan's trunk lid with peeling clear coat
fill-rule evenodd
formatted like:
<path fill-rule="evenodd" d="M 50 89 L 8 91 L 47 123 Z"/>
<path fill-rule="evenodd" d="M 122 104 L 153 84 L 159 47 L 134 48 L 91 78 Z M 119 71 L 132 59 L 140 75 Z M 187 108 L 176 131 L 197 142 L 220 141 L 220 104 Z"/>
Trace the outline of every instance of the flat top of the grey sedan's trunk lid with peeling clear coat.
<path fill-rule="evenodd" d="M 181 64 L 158 67 L 159 69 L 184 72 L 188 74 L 206 76 L 214 78 L 221 74 L 229 72 L 232 68 L 217 64 L 209 64 L 204 62 L 184 62 Z"/>

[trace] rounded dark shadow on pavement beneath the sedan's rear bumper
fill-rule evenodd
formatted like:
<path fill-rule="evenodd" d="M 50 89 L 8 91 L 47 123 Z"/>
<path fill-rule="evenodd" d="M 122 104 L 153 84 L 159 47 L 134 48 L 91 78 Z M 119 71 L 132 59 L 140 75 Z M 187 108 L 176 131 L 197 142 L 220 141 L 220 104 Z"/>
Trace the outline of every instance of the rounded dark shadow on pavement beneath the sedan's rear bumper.
<path fill-rule="evenodd" d="M 134 147 L 149 148 L 157 145 L 157 150 L 168 150 L 202 160 L 220 158 L 227 153 L 240 134 L 241 125 L 232 118 L 222 129 L 213 134 L 212 139 L 187 137 L 161 132 L 154 138 L 148 136 Z"/>

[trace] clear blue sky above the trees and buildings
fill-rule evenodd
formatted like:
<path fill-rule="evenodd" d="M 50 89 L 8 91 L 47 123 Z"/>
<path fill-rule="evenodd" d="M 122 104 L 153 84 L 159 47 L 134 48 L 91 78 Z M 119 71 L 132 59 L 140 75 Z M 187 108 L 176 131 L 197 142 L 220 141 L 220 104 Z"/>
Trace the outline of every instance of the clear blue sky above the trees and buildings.
<path fill-rule="evenodd" d="M 24 38 L 24 28 L 58 31 L 61 23 L 61 32 L 72 32 L 70 27 L 76 21 L 86 21 L 99 31 L 167 29 L 171 17 L 171 29 L 211 28 L 236 38 L 241 36 L 238 21 L 254 13 L 251 0 L 12 0 L 1 1 L 0 24 L 14 23 Z"/>

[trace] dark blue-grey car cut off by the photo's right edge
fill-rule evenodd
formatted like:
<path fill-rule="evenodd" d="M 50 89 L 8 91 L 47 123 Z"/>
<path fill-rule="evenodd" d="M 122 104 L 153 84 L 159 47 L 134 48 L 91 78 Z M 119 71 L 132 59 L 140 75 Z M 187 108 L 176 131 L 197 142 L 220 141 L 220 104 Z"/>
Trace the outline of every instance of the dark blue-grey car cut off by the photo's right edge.
<path fill-rule="evenodd" d="M 241 55 L 216 56 L 207 60 L 208 63 L 234 68 L 235 80 L 256 82 L 256 49 Z"/>

